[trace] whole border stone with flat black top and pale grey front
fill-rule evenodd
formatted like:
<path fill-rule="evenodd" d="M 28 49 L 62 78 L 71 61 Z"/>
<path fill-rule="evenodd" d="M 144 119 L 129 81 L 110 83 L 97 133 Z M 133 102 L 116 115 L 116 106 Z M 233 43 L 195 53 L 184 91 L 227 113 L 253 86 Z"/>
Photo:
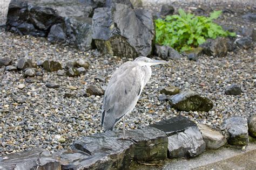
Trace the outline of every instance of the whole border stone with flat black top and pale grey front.
<path fill-rule="evenodd" d="M 167 134 L 169 158 L 195 157 L 205 150 L 206 145 L 197 125 L 184 116 L 159 121 L 150 127 Z"/>

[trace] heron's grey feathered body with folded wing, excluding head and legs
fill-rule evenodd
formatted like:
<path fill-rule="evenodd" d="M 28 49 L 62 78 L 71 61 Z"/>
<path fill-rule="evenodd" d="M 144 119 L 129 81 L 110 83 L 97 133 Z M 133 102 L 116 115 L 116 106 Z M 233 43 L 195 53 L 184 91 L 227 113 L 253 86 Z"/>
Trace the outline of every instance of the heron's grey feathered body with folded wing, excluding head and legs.
<path fill-rule="evenodd" d="M 114 72 L 104 95 L 104 130 L 113 128 L 127 111 L 133 109 L 142 91 L 143 79 L 144 72 L 132 62 L 122 65 Z"/>

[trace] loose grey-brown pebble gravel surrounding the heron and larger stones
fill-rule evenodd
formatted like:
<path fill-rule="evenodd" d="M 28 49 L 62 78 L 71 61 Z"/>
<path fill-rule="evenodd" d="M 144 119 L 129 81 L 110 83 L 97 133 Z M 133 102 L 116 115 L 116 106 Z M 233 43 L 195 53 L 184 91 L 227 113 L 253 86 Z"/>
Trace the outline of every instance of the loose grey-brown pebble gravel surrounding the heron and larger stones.
<path fill-rule="evenodd" d="M 181 5 L 182 6 L 182 5 Z M 233 27 L 256 27 L 239 19 L 239 14 L 224 15 L 219 23 Z M 256 112 L 255 98 L 255 46 L 237 49 L 225 58 L 200 56 L 197 62 L 186 58 L 170 61 L 169 65 L 152 67 L 152 77 L 143 90 L 136 108 L 126 118 L 126 129 L 143 128 L 161 119 L 178 114 L 197 123 L 219 128 L 224 119 L 239 115 L 248 117 Z M 114 70 L 131 59 L 101 55 L 97 51 L 79 52 L 72 47 L 52 45 L 45 38 L 17 36 L 0 31 L 0 57 L 10 56 L 14 60 L 27 57 L 34 62 L 55 59 L 65 66 L 69 60 L 82 58 L 89 61 L 90 68 L 78 77 L 58 76 L 56 72 L 45 72 L 33 78 L 24 78 L 23 72 L 6 72 L 0 68 L 0 155 L 19 152 L 32 147 L 43 147 L 50 151 L 67 148 L 72 141 L 100 131 L 100 110 L 103 96 L 84 97 L 89 84 L 106 87 Z M 102 77 L 103 81 L 95 77 Z M 53 81 L 60 84 L 57 89 L 45 86 Z M 238 83 L 243 93 L 225 95 L 232 83 Z M 23 89 L 18 85 L 24 84 Z M 159 91 L 168 85 L 181 91 L 194 90 L 210 98 L 214 107 L 209 112 L 178 112 L 166 101 L 159 101 Z M 205 84 L 205 86 L 201 86 Z M 77 87 L 71 90 L 69 86 Z M 64 93 L 75 93 L 74 98 L 65 98 Z M 122 122 L 116 125 L 122 129 Z M 65 139 L 60 143 L 58 139 Z"/>

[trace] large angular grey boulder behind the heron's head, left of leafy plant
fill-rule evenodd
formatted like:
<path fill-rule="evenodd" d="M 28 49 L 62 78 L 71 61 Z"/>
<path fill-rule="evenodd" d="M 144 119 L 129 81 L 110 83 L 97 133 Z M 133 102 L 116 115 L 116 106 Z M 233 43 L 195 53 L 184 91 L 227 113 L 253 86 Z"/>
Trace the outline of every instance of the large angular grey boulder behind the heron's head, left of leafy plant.
<path fill-rule="evenodd" d="M 92 38 L 103 53 L 135 58 L 152 52 L 153 18 L 144 9 L 131 9 L 125 4 L 97 8 L 92 18 L 92 30 Z"/>

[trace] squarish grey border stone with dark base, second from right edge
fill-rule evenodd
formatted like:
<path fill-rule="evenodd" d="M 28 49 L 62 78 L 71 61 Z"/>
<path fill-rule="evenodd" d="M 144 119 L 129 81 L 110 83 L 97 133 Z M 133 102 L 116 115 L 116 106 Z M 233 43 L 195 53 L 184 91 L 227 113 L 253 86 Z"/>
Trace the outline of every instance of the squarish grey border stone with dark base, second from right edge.
<path fill-rule="evenodd" d="M 229 134 L 228 143 L 231 145 L 247 145 L 248 138 L 248 124 L 245 118 L 235 116 L 230 117 L 224 121 L 223 128 Z"/>

